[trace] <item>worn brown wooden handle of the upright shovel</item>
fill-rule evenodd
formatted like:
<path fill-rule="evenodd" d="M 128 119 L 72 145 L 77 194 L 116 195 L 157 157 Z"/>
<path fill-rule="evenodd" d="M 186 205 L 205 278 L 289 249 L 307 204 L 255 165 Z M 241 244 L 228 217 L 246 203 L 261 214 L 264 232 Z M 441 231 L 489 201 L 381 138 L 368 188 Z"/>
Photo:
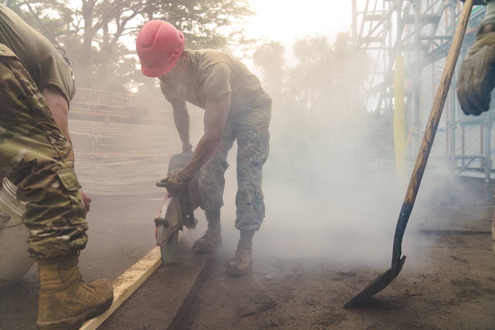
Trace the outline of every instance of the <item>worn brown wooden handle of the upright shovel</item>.
<path fill-rule="evenodd" d="M 419 147 L 411 180 L 409 181 L 409 187 L 407 188 L 407 193 L 404 199 L 405 205 L 413 206 L 414 201 L 416 200 L 419 185 L 421 183 L 421 179 L 423 178 L 423 174 L 425 173 L 426 162 L 428 161 L 433 140 L 435 139 L 438 123 L 440 122 L 440 117 L 442 116 L 442 110 L 444 109 L 450 82 L 454 74 L 455 63 L 457 62 L 457 57 L 459 56 L 464 34 L 466 33 L 469 16 L 471 15 L 471 10 L 473 9 L 473 3 L 474 0 L 466 0 L 464 7 L 462 8 L 459 23 L 457 24 L 457 30 L 455 31 L 455 35 L 452 40 L 452 46 L 450 47 L 447 55 L 444 73 L 440 81 L 440 86 L 438 87 L 437 95 L 435 96 L 435 101 L 430 113 L 430 118 L 428 119 L 428 124 L 426 125 L 423 141 L 421 141 L 421 146 Z"/>

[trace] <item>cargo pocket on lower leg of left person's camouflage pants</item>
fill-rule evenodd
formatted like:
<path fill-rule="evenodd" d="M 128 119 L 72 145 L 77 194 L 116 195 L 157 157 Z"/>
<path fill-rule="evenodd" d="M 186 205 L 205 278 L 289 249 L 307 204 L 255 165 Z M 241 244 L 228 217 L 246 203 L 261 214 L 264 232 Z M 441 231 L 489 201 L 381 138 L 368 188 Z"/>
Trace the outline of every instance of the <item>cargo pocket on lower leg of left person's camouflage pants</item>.
<path fill-rule="evenodd" d="M 63 206 L 71 208 L 71 211 L 67 214 L 67 220 L 73 226 L 85 224 L 86 208 L 84 207 L 82 195 L 79 192 L 81 185 L 77 180 L 75 170 L 72 168 L 58 170 L 57 176 L 64 187 L 64 194 L 68 197 L 68 199 L 66 199 L 67 205 Z"/>

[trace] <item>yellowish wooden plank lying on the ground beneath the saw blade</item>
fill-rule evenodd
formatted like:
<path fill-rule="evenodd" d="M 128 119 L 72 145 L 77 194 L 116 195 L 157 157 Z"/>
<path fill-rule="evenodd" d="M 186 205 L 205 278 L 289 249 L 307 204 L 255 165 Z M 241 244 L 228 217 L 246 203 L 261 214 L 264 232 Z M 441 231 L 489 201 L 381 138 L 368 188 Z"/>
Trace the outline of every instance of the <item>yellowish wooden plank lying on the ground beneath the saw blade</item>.
<path fill-rule="evenodd" d="M 122 303 L 160 267 L 160 247 L 157 246 L 113 281 L 113 303 L 103 314 L 86 321 L 80 330 L 97 329 Z"/>

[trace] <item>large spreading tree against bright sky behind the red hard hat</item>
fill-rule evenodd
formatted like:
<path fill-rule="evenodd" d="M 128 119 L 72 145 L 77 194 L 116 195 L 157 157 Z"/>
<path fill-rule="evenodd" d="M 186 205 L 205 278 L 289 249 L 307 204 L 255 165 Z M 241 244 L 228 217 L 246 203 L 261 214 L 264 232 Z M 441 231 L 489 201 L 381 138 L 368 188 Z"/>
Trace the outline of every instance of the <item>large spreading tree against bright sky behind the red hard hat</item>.
<path fill-rule="evenodd" d="M 66 49 L 78 87 L 112 92 L 143 84 L 141 77 L 135 78 L 134 40 L 149 19 L 174 24 L 184 32 L 187 47 L 228 50 L 244 42 L 240 23 L 254 14 L 247 0 L 3 1 L 55 46 Z"/>

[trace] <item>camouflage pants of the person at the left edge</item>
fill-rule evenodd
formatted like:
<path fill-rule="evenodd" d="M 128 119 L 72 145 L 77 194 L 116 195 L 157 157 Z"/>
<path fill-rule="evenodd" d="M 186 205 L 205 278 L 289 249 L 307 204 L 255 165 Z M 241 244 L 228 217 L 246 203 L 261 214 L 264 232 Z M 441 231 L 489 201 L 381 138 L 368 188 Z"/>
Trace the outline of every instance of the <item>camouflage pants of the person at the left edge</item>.
<path fill-rule="evenodd" d="M 85 247 L 86 210 L 74 154 L 33 80 L 0 44 L 0 171 L 25 204 L 28 253 L 65 255 Z"/>

